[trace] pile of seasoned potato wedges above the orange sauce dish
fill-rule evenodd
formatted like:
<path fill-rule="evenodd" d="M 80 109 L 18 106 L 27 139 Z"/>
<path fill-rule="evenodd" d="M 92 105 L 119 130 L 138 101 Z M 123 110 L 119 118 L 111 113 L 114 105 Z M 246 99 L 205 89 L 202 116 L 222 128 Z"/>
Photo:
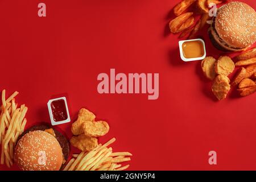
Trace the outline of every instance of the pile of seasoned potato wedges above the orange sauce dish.
<path fill-rule="evenodd" d="M 179 38 L 188 36 L 188 39 L 193 39 L 197 32 L 201 30 L 207 21 L 212 18 L 209 16 L 209 7 L 212 3 L 220 4 L 225 2 L 218 0 L 183 0 L 174 7 L 174 14 L 176 18 L 172 19 L 169 23 L 170 31 L 172 34 L 180 33 Z M 195 5 L 193 12 L 185 12 L 189 7 Z M 201 17 L 195 22 L 194 14 L 200 14 Z"/>

